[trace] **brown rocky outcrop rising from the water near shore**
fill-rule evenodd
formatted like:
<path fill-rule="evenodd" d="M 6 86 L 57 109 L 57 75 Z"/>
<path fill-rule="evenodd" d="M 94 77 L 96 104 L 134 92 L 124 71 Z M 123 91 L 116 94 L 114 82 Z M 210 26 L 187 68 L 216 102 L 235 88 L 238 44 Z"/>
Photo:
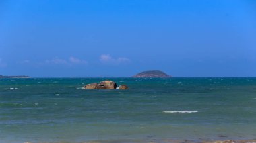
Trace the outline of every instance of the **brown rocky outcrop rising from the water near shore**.
<path fill-rule="evenodd" d="M 128 89 L 127 85 L 120 85 L 114 81 L 100 81 L 100 83 L 90 83 L 84 86 L 84 89 Z"/>

